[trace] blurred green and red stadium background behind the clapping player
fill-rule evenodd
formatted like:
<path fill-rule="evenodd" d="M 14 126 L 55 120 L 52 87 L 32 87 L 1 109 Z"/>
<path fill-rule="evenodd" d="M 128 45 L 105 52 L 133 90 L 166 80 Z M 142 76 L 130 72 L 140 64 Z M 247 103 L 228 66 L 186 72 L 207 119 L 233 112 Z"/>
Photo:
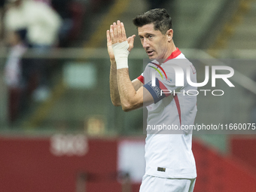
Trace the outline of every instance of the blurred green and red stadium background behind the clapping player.
<path fill-rule="evenodd" d="M 65 40 L 59 38 L 47 52 L 29 48 L 20 59 L 47 66 L 47 88 L 38 95 L 40 73 L 29 77 L 26 90 L 6 83 L 11 47 L 4 20 L 10 1 L 1 1 L 0 191 L 139 191 L 145 169 L 142 110 L 124 113 L 111 104 L 105 32 L 121 20 L 127 35 L 137 35 L 133 17 L 152 6 L 169 11 L 175 45 L 188 59 L 224 59 L 240 74 L 232 80 L 236 88 L 227 89 L 221 99 L 198 96 L 196 123 L 256 123 L 255 1 L 41 2 L 56 11 L 68 2 L 73 24 Z M 141 74 L 145 58 L 136 37 L 131 79 Z M 203 62 L 196 68 L 202 82 Z M 256 191 L 255 131 L 230 133 L 194 134 L 195 192 Z"/>

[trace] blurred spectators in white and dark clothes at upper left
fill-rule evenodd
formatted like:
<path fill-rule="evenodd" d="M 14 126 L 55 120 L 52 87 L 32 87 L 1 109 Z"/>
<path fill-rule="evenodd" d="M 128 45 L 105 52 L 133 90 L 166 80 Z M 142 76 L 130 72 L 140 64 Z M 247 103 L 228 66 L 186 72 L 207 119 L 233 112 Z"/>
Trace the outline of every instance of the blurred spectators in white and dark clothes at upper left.
<path fill-rule="evenodd" d="M 75 0 L 1 0 L 1 46 L 8 47 L 5 82 L 8 86 L 9 121 L 26 110 L 28 99 L 49 98 L 46 59 L 26 59 L 54 47 L 69 47 L 81 32 L 85 7 Z"/>

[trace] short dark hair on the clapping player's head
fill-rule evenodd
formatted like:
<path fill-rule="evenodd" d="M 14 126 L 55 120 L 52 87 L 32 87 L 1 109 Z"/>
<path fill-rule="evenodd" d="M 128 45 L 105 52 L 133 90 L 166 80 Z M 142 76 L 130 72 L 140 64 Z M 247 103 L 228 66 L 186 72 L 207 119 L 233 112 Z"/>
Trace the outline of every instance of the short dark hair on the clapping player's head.
<path fill-rule="evenodd" d="M 145 26 L 154 23 L 154 30 L 160 30 L 165 34 L 169 29 L 172 29 L 172 18 L 169 17 L 166 9 L 151 9 L 144 14 L 139 14 L 133 19 L 133 24 L 137 27 Z"/>

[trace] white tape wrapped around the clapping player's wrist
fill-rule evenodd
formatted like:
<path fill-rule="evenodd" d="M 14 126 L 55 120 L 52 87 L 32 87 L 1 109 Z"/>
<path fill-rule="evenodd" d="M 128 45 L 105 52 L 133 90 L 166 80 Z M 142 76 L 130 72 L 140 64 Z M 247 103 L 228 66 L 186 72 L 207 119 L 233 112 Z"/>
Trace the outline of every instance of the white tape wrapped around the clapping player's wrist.
<path fill-rule="evenodd" d="M 128 50 L 128 41 L 112 44 L 112 48 L 114 51 L 114 59 L 117 63 L 117 69 L 128 68 L 128 55 L 130 53 Z"/>

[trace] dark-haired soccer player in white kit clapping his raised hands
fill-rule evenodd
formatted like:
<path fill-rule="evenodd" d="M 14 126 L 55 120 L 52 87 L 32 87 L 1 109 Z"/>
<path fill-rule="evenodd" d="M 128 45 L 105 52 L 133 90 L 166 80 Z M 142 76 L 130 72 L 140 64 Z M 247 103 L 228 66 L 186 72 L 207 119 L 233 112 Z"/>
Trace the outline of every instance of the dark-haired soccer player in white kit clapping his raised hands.
<path fill-rule="evenodd" d="M 111 101 L 115 106 L 121 105 L 123 111 L 144 106 L 148 109 L 146 170 L 140 192 L 191 192 L 197 177 L 191 151 L 192 135 L 182 128 L 194 124 L 197 114 L 197 96 L 187 94 L 188 90 L 197 91 L 197 88 L 191 87 L 185 78 L 189 75 L 190 81 L 196 82 L 196 70 L 175 47 L 172 20 L 165 9 L 141 14 L 133 19 L 133 23 L 151 59 L 139 78 L 130 81 L 128 72 L 128 55 L 133 49 L 135 35 L 126 38 L 123 23 L 117 20 L 107 31 L 107 39 Z M 176 75 L 182 74 L 180 69 L 184 78 L 178 80 Z M 151 128 L 148 130 L 154 126 L 161 127 L 158 133 L 151 132 Z M 162 130 L 166 127 L 169 127 L 169 133 Z M 176 132 L 171 131 L 173 127 Z"/>

